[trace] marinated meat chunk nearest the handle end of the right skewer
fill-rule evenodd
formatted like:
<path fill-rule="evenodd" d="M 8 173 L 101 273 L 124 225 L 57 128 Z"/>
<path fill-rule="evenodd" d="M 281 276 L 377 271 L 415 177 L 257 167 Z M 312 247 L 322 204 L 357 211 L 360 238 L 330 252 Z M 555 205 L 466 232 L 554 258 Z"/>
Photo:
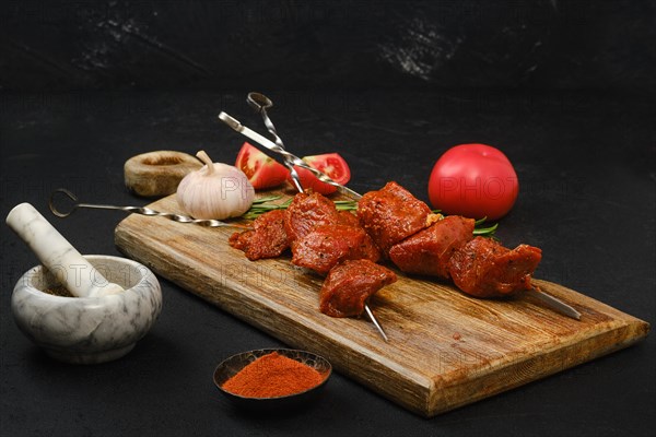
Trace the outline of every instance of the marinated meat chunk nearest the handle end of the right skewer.
<path fill-rule="evenodd" d="M 431 209 L 396 182 L 365 193 L 358 215 L 374 243 L 388 255 L 391 246 L 427 226 Z"/>

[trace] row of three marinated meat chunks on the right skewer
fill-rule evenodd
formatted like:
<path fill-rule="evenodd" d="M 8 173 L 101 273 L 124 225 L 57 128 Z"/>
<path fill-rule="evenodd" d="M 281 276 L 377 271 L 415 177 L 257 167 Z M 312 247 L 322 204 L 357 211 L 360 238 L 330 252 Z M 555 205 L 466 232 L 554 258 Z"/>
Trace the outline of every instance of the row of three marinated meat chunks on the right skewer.
<path fill-rule="evenodd" d="M 459 290 L 477 297 L 531 288 L 540 249 L 520 245 L 511 250 L 490 238 L 473 238 L 471 218 L 447 216 L 431 224 L 422 203 L 396 182 L 367 192 L 359 202 L 364 228 L 379 247 L 388 247 L 389 259 L 401 271 L 452 279 Z"/>

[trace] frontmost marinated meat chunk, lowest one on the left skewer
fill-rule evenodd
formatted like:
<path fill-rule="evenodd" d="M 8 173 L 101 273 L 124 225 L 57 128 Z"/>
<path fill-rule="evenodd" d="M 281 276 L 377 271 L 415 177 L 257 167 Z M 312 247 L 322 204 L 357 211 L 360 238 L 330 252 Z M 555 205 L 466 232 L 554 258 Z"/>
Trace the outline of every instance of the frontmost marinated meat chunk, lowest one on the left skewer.
<path fill-rule="evenodd" d="M 330 317 L 360 316 L 366 300 L 396 274 L 370 260 L 348 260 L 330 270 L 319 296 L 319 310 Z"/>

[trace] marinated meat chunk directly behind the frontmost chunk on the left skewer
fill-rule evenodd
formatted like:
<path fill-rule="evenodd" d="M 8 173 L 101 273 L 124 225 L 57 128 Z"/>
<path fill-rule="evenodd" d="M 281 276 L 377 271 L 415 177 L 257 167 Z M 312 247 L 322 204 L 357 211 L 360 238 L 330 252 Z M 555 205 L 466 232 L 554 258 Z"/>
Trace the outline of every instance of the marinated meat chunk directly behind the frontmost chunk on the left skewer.
<path fill-rule="evenodd" d="M 314 228 L 293 243 L 292 253 L 292 263 L 321 274 L 343 260 L 365 258 L 376 262 L 380 258 L 368 234 L 362 227 L 348 225 Z"/>

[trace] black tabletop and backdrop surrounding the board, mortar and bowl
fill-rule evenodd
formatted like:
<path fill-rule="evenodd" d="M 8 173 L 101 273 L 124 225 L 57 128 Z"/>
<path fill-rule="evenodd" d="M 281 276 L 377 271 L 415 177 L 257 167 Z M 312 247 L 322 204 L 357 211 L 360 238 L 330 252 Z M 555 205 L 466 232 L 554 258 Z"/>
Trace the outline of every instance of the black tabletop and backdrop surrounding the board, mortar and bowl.
<path fill-rule="evenodd" d="M 121 213 L 47 211 L 67 187 L 145 204 L 122 165 L 153 150 L 234 162 L 263 132 L 260 91 L 298 155 L 339 152 L 350 187 L 397 180 L 426 200 L 433 163 L 483 142 L 520 194 L 507 246 L 542 248 L 537 276 L 656 320 L 654 1 L 4 1 L 0 5 L 0 215 L 33 203 L 83 253 L 120 255 Z M 163 279 L 164 309 L 126 357 L 50 361 L 13 323 L 11 290 L 36 264 L 0 227 L 0 434 L 654 435 L 653 335 L 628 350 L 424 420 L 336 374 L 316 404 L 234 410 L 214 366 L 282 345 Z"/>

